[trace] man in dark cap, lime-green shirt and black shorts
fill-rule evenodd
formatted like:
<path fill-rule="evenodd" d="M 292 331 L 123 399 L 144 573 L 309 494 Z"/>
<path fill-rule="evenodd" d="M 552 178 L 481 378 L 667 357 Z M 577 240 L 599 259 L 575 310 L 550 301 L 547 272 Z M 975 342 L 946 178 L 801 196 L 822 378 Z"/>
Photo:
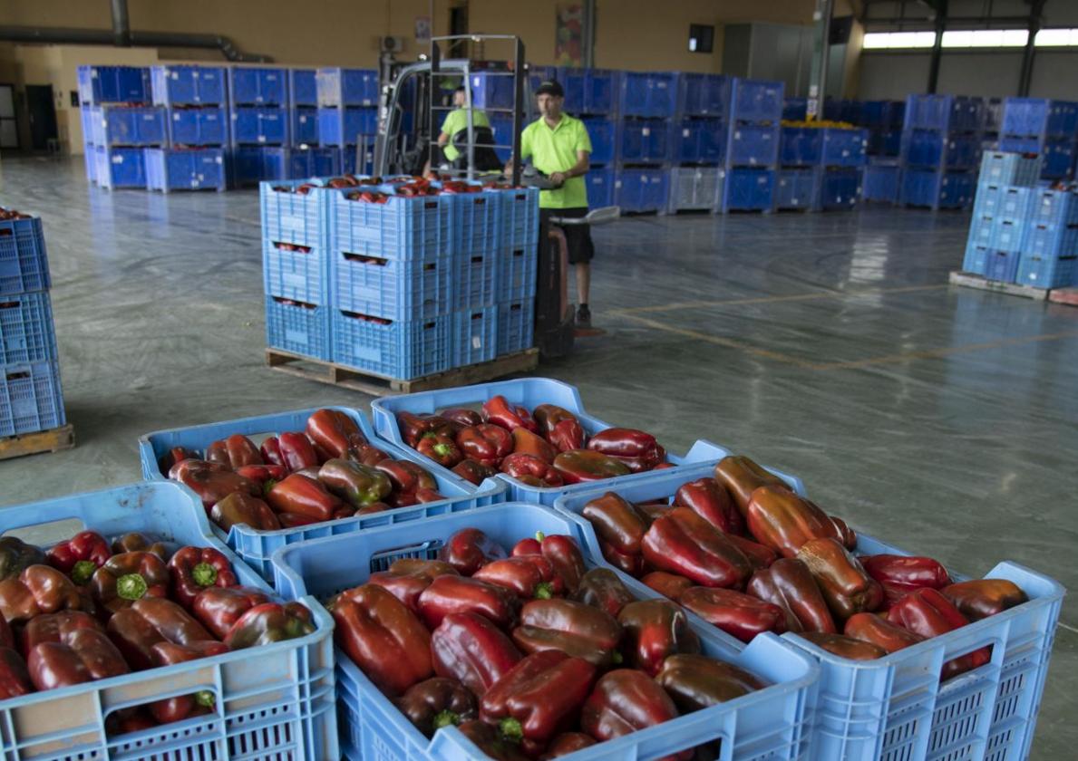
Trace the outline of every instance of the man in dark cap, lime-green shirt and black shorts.
<path fill-rule="evenodd" d="M 556 188 L 539 193 L 539 212 L 543 225 L 551 217 L 584 217 L 588 215 L 589 155 L 592 141 L 579 119 L 563 113 L 565 92 L 557 82 L 543 82 L 536 89 L 540 117 L 521 133 L 521 158 L 531 158 L 536 169 L 547 175 Z M 577 269 L 577 326 L 590 328 L 592 313 L 588 308 L 591 287 L 591 264 L 595 255 L 592 235 L 586 224 L 564 227 L 569 249 L 569 262 Z"/>

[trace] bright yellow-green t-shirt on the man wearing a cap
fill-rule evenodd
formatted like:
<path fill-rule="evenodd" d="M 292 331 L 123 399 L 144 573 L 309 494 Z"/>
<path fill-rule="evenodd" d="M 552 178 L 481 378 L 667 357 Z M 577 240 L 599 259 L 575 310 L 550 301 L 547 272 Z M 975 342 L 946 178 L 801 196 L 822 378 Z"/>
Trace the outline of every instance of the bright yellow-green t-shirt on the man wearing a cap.
<path fill-rule="evenodd" d="M 521 133 L 521 158 L 530 156 L 536 169 L 545 175 L 571 169 L 577 164 L 578 151 L 591 153 L 592 141 L 584 123 L 567 113 L 562 114 L 562 121 L 553 129 L 540 116 Z M 540 192 L 539 206 L 543 209 L 588 208 L 584 178 L 571 177 L 557 190 Z"/>

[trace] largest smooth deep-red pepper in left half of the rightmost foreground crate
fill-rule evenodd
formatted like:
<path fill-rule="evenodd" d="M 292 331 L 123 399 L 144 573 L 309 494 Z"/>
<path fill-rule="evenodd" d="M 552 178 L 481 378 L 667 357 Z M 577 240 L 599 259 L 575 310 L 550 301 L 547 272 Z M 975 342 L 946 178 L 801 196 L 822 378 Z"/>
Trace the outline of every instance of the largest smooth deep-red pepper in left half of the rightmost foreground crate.
<path fill-rule="evenodd" d="M 658 570 L 680 573 L 702 586 L 743 587 L 752 564 L 727 535 L 688 508 L 657 518 L 641 542 Z"/>

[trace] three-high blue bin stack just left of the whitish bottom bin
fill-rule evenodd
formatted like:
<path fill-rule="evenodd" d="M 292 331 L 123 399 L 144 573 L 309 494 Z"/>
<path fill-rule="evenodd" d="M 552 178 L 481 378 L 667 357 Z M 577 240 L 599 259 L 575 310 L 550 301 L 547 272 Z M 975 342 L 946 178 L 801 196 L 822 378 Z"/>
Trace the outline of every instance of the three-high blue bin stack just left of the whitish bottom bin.
<path fill-rule="evenodd" d="M 622 71 L 618 80 L 613 202 L 631 213 L 665 213 L 673 150 L 671 115 L 677 108 L 678 75 Z"/>

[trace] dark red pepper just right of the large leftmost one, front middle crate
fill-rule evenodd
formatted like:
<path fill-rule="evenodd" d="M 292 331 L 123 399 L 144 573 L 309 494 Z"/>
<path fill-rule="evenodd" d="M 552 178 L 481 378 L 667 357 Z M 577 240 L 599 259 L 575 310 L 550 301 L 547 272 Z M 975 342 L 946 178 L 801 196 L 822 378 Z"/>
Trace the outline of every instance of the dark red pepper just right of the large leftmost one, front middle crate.
<path fill-rule="evenodd" d="M 497 626 L 478 613 L 451 613 L 430 635 L 434 673 L 452 677 L 476 696 L 521 660 L 516 646 Z"/>

